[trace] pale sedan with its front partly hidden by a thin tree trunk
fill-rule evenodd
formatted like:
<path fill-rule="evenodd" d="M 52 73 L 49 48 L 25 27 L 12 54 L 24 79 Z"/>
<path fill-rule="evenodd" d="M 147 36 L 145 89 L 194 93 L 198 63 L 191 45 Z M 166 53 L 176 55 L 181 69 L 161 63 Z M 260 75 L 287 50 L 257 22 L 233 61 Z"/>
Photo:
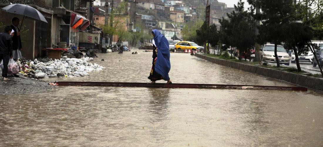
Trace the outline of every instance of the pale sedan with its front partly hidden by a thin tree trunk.
<path fill-rule="evenodd" d="M 261 53 L 261 61 L 262 62 L 272 62 L 276 63 L 275 57 L 275 45 L 273 44 L 266 44 L 260 47 Z M 287 54 L 285 48 L 283 46 L 277 46 L 277 55 L 280 64 L 289 65 L 290 56 Z"/>

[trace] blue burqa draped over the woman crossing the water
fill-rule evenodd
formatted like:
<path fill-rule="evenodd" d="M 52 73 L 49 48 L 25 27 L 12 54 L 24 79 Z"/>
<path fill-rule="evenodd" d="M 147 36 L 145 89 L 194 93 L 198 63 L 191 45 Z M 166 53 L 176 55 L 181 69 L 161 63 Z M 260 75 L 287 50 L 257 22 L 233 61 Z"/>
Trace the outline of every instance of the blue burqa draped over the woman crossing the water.
<path fill-rule="evenodd" d="M 157 60 L 155 64 L 155 71 L 159 73 L 164 80 L 169 80 L 168 73 L 171 70 L 170 52 L 168 40 L 158 30 L 152 30 L 155 34 L 154 41 L 157 47 Z"/>

